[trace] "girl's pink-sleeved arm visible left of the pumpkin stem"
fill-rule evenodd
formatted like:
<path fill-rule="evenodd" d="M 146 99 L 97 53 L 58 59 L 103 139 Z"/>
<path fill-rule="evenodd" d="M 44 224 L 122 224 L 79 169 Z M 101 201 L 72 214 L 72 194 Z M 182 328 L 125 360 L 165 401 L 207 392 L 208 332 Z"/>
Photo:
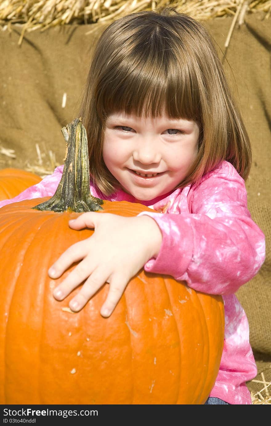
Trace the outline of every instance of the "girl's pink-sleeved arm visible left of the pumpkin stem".
<path fill-rule="evenodd" d="M 63 166 L 56 167 L 52 175 L 46 176 L 38 184 L 26 188 L 26 190 L 12 199 L 0 201 L 0 207 L 6 204 L 16 203 L 17 201 L 53 196 L 60 182 L 62 170 Z"/>

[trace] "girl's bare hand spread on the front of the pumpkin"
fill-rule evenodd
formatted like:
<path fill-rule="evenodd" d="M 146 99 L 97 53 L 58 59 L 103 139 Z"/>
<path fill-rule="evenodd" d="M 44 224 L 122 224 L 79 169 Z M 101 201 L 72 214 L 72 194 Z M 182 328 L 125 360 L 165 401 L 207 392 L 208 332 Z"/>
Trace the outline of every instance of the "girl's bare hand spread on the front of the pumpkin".
<path fill-rule="evenodd" d="M 71 228 L 95 228 L 89 238 L 71 245 L 49 269 L 51 278 L 58 278 L 80 259 L 81 262 L 55 288 L 55 299 L 62 300 L 81 284 L 78 294 L 70 301 L 73 311 L 80 311 L 105 282 L 110 284 L 101 314 L 109 317 L 114 311 L 129 280 L 153 256 L 157 256 L 162 233 L 149 216 L 123 217 L 111 213 L 83 213 L 70 221 Z"/>

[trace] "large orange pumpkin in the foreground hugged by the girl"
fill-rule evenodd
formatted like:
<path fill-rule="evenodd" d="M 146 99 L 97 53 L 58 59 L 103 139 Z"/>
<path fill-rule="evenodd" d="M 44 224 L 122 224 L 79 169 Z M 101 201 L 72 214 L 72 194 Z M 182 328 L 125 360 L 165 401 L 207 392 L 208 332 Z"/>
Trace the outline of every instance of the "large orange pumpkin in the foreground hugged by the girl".
<path fill-rule="evenodd" d="M 66 130 L 69 146 L 85 143 L 80 120 Z M 78 146 L 76 150 L 82 155 Z M 73 210 L 84 203 L 98 210 L 102 202 L 90 196 L 89 183 L 84 201 L 71 196 L 70 180 L 63 184 L 77 167 L 70 161 L 68 152 L 62 184 L 51 199 L 0 209 L 0 403 L 203 404 L 215 383 L 223 348 L 220 296 L 143 270 L 130 280 L 109 318 L 99 313 L 107 284 L 78 313 L 68 308 L 78 289 L 61 302 L 52 296 L 69 271 L 52 280 L 49 266 L 93 230 L 70 229 L 68 220 L 80 214 L 71 207 L 63 212 L 32 207 L 43 201 L 38 208 L 49 204 L 59 210 L 66 205 L 65 194 Z M 88 168 L 83 173 L 88 174 Z M 82 194 L 85 178 L 79 181 L 75 187 Z M 104 201 L 102 207 L 123 216 L 146 210 L 126 201 Z"/>

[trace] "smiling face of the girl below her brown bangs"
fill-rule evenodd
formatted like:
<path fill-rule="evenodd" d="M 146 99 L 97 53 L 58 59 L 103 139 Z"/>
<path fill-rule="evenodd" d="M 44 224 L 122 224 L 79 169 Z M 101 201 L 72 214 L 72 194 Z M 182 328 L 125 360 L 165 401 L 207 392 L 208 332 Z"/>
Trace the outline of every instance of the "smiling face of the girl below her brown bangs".
<path fill-rule="evenodd" d="M 199 127 L 192 120 L 115 113 L 105 123 L 103 159 L 126 193 L 152 200 L 187 176 L 198 138 Z"/>

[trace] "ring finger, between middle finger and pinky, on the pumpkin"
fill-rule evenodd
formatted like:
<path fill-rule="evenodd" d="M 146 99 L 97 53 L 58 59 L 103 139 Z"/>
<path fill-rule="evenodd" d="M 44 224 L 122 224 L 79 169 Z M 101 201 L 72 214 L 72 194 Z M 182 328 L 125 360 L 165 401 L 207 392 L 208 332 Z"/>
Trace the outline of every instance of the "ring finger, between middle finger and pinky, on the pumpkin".
<path fill-rule="evenodd" d="M 70 300 L 69 306 L 72 311 L 80 311 L 89 299 L 105 284 L 108 279 L 108 274 L 105 273 L 104 268 L 95 269 L 89 278 L 86 280 L 85 284 L 82 286 L 82 289 L 79 291 L 76 296 Z"/>

